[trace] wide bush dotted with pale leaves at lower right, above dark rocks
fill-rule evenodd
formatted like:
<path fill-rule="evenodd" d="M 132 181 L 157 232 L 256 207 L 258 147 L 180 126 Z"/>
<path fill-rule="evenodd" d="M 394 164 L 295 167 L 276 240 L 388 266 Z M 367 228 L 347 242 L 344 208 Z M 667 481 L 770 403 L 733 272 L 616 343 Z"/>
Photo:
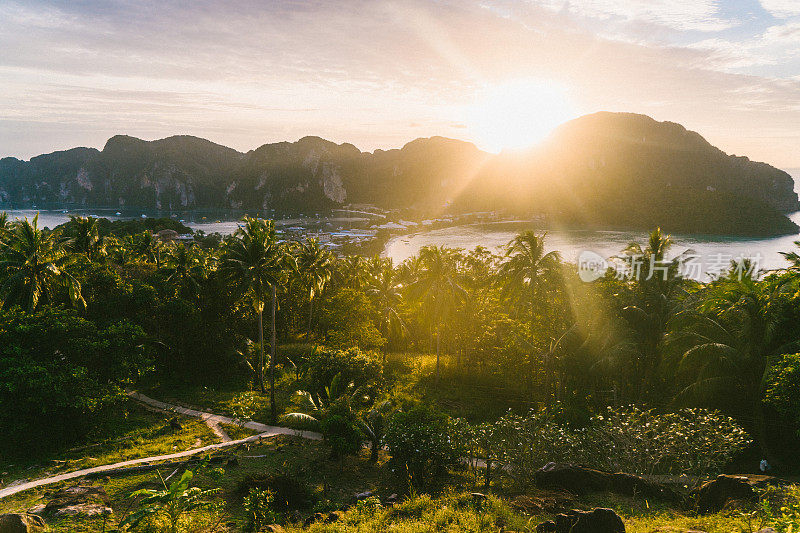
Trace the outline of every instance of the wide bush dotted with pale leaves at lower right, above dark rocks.
<path fill-rule="evenodd" d="M 481 442 L 524 487 L 551 461 L 640 475 L 715 473 L 750 438 L 733 419 L 716 411 L 660 414 L 630 406 L 609 408 L 581 429 L 559 424 L 546 412 L 509 412 L 481 430 Z"/>

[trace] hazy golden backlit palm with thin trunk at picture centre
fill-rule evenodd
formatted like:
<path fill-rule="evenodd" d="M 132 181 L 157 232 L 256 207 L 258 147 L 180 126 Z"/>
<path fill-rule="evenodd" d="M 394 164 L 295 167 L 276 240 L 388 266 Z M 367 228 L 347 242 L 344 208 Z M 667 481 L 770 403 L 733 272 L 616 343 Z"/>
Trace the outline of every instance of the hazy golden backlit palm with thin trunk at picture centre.
<path fill-rule="evenodd" d="M 425 246 L 419 251 L 418 277 L 411 293 L 422 304 L 436 332 L 436 384 L 439 384 L 442 326 L 452 317 L 464 296 L 459 284 L 455 253 L 444 247 Z"/>

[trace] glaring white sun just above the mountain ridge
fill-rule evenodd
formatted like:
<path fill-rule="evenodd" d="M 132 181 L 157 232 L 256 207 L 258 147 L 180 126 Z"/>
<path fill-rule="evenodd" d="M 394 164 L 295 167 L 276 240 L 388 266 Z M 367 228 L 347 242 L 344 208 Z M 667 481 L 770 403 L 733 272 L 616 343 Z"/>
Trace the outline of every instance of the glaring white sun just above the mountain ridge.
<path fill-rule="evenodd" d="M 563 87 L 525 79 L 485 87 L 467 108 L 466 122 L 480 148 L 498 153 L 532 146 L 577 116 Z"/>

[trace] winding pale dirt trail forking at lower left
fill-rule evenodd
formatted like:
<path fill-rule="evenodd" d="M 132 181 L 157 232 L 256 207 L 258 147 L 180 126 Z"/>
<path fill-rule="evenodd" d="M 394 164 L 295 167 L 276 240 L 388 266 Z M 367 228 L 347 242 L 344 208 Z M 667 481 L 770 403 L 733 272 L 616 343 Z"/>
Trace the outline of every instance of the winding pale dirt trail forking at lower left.
<path fill-rule="evenodd" d="M 235 420 L 233 418 L 222 416 L 222 415 L 215 415 L 213 413 L 207 413 L 204 411 L 197 411 L 195 409 L 187 409 L 186 407 L 181 407 L 178 405 L 172 405 L 165 402 L 161 402 L 159 400 L 154 400 L 144 394 L 139 392 L 131 391 L 128 392 L 128 396 L 142 402 L 143 404 L 149 405 L 161 411 L 169 411 L 173 413 L 178 413 L 184 416 L 190 416 L 194 418 L 200 418 L 201 420 L 205 421 L 212 429 L 216 426 L 219 427 L 219 424 L 234 424 L 237 426 L 245 427 L 247 429 L 252 429 L 253 431 L 257 431 L 257 435 L 252 435 L 250 437 L 238 440 L 228 440 L 226 442 L 219 442 L 217 444 L 210 444 L 208 446 L 203 446 L 201 448 L 192 448 L 190 450 L 185 450 L 182 452 L 170 453 L 167 455 L 156 455 L 153 457 L 141 457 L 139 459 L 131 459 L 129 461 L 122 461 L 120 463 L 112 463 L 108 465 L 101 465 L 101 466 L 94 466 L 92 468 L 84 468 L 83 470 L 76 470 L 74 472 L 67 472 L 65 474 L 59 474 L 57 476 L 37 479 L 35 481 L 28 481 L 25 483 L 20 483 L 18 485 L 14 485 L 11 487 L 6 487 L 4 489 L 0 489 L 0 498 L 5 498 L 6 496 L 11 496 L 12 494 L 16 494 L 18 492 L 22 492 L 25 490 L 33 489 L 36 487 L 41 487 L 43 485 L 50 485 L 52 483 L 59 483 L 61 481 L 68 481 L 70 479 L 76 479 L 79 477 L 83 477 L 89 474 L 97 474 L 106 472 L 108 470 L 114 470 L 117 468 L 123 468 L 126 466 L 134 466 L 143 463 L 152 463 L 157 461 L 166 461 L 169 459 L 179 459 L 181 457 L 190 457 L 192 455 L 197 455 L 205 452 L 212 452 L 216 450 L 220 450 L 223 448 L 227 448 L 229 446 L 237 446 L 240 444 L 244 444 L 247 442 L 256 442 L 260 439 L 275 437 L 276 435 L 294 435 L 303 437 L 305 439 L 311 440 L 320 440 L 322 435 L 319 433 L 315 433 L 313 431 L 298 431 L 296 429 L 281 427 L 281 426 L 268 426 L 266 424 L 261 424 L 260 422 L 241 422 L 239 420 Z"/>

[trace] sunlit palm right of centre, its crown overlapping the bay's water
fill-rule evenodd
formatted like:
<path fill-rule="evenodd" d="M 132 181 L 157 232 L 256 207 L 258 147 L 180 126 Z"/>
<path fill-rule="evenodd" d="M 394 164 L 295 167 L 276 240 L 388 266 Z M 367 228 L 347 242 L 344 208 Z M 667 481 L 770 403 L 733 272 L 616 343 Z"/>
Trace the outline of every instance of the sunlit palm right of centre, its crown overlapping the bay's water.
<path fill-rule="evenodd" d="M 530 333 L 536 324 L 537 306 L 543 302 L 544 293 L 558 285 L 561 274 L 561 257 L 558 252 L 544 251 L 544 235 L 525 231 L 506 246 L 505 261 L 499 274 L 504 290 L 512 300 L 529 306 Z"/>

